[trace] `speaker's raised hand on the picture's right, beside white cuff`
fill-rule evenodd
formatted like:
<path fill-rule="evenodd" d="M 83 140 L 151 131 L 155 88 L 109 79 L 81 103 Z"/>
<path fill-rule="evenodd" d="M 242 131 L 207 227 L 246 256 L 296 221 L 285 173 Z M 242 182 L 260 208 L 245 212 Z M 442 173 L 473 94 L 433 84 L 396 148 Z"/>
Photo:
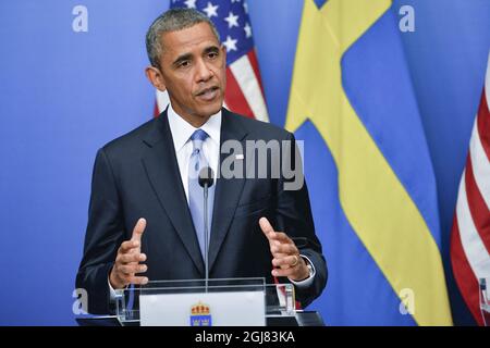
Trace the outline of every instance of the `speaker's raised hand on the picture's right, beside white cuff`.
<path fill-rule="evenodd" d="M 309 276 L 309 270 L 294 241 L 285 233 L 275 232 L 266 217 L 261 217 L 259 224 L 269 240 L 270 252 L 273 257 L 272 275 L 286 276 L 295 282 L 306 279 Z"/>

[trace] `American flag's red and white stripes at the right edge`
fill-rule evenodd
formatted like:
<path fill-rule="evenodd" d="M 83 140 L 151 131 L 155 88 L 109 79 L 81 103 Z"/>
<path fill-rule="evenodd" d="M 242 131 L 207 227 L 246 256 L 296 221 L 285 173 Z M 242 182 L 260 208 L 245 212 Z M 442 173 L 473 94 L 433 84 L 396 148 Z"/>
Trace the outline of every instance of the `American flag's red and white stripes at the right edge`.
<path fill-rule="evenodd" d="M 460 183 L 451 235 L 451 262 L 461 294 L 473 316 L 483 325 L 490 298 L 490 54 L 480 108 L 473 127 L 466 169 Z M 487 316 L 487 318 L 486 318 Z"/>

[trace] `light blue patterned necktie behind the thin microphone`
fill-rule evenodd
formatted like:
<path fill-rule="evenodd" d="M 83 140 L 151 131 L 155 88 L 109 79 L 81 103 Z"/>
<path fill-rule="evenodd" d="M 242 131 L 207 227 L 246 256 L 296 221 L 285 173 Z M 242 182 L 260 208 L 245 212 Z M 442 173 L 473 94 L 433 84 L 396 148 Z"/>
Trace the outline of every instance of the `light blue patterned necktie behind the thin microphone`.
<path fill-rule="evenodd" d="M 193 153 L 188 161 L 188 208 L 199 241 L 203 260 L 205 257 L 205 225 L 204 225 L 204 188 L 199 186 L 199 171 L 209 165 L 203 152 L 203 144 L 208 138 L 208 134 L 203 129 L 197 129 L 191 136 L 193 141 Z M 212 206 L 215 202 L 215 185 L 208 189 L 208 244 L 210 240 Z"/>

